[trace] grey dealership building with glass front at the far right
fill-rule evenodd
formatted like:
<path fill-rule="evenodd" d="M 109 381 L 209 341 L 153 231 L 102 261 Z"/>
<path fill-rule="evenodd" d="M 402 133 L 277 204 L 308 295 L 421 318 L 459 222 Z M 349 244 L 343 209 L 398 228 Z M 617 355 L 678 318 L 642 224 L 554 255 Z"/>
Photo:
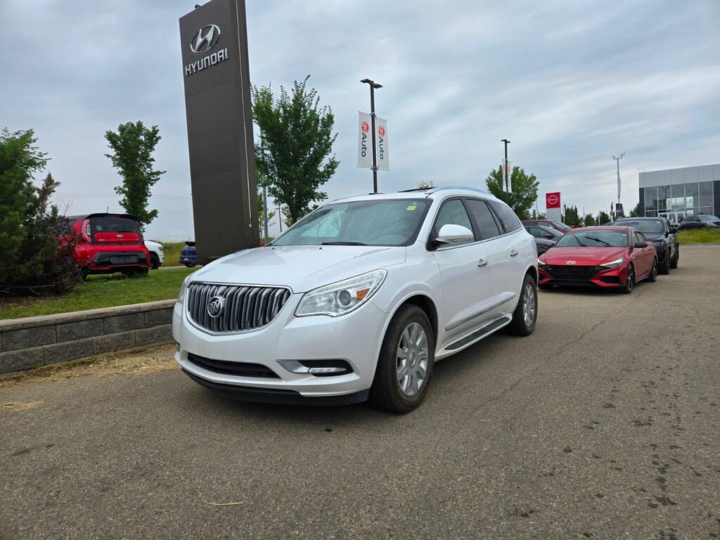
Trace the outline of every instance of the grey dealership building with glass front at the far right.
<path fill-rule="evenodd" d="M 678 222 L 686 215 L 720 215 L 720 163 L 641 172 L 643 215 Z"/>

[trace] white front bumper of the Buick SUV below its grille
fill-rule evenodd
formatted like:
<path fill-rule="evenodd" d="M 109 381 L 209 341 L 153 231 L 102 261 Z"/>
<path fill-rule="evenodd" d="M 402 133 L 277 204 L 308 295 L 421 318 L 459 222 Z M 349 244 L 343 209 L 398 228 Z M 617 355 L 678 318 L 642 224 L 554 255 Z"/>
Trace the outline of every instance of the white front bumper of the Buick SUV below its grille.
<path fill-rule="evenodd" d="M 366 302 L 341 317 L 295 317 L 301 298 L 302 294 L 293 294 L 269 325 L 240 333 L 203 330 L 190 320 L 184 305 L 177 303 L 173 314 L 173 336 L 178 343 L 175 359 L 195 382 L 212 390 L 232 392 L 240 399 L 315 403 L 315 398 L 337 398 L 328 400 L 328 404 L 366 400 L 387 315 Z M 220 362 L 259 364 L 276 377 L 206 369 L 189 359 L 193 355 Z M 322 377 L 294 373 L 279 360 L 342 360 L 352 372 Z"/>

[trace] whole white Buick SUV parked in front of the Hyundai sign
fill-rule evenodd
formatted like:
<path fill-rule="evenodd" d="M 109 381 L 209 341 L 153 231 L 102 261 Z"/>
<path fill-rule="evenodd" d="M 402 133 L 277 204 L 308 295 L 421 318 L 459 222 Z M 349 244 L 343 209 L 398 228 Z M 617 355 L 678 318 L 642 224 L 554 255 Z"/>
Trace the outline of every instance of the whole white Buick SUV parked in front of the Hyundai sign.
<path fill-rule="evenodd" d="M 240 399 L 407 412 L 435 361 L 534 330 L 536 282 L 534 238 L 487 192 L 348 197 L 188 276 L 175 358 Z"/>

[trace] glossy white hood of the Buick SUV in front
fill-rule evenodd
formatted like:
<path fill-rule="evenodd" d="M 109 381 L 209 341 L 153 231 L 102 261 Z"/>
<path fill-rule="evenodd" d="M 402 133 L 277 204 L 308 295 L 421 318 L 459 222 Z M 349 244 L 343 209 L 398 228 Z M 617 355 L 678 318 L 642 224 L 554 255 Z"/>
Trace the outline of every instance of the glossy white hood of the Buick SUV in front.
<path fill-rule="evenodd" d="M 204 266 L 192 282 L 284 285 L 307 292 L 405 262 L 405 247 L 269 246 L 239 251 Z"/>

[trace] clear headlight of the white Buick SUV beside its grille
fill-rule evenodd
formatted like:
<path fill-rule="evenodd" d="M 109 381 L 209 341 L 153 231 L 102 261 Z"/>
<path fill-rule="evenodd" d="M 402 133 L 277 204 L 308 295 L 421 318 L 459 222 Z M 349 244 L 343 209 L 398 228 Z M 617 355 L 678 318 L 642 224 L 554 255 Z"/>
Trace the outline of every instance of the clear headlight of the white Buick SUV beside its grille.
<path fill-rule="evenodd" d="M 297 317 L 330 315 L 337 317 L 355 310 L 372 297 L 387 275 L 385 270 L 374 270 L 342 282 L 325 285 L 308 292 L 295 310 Z"/>

